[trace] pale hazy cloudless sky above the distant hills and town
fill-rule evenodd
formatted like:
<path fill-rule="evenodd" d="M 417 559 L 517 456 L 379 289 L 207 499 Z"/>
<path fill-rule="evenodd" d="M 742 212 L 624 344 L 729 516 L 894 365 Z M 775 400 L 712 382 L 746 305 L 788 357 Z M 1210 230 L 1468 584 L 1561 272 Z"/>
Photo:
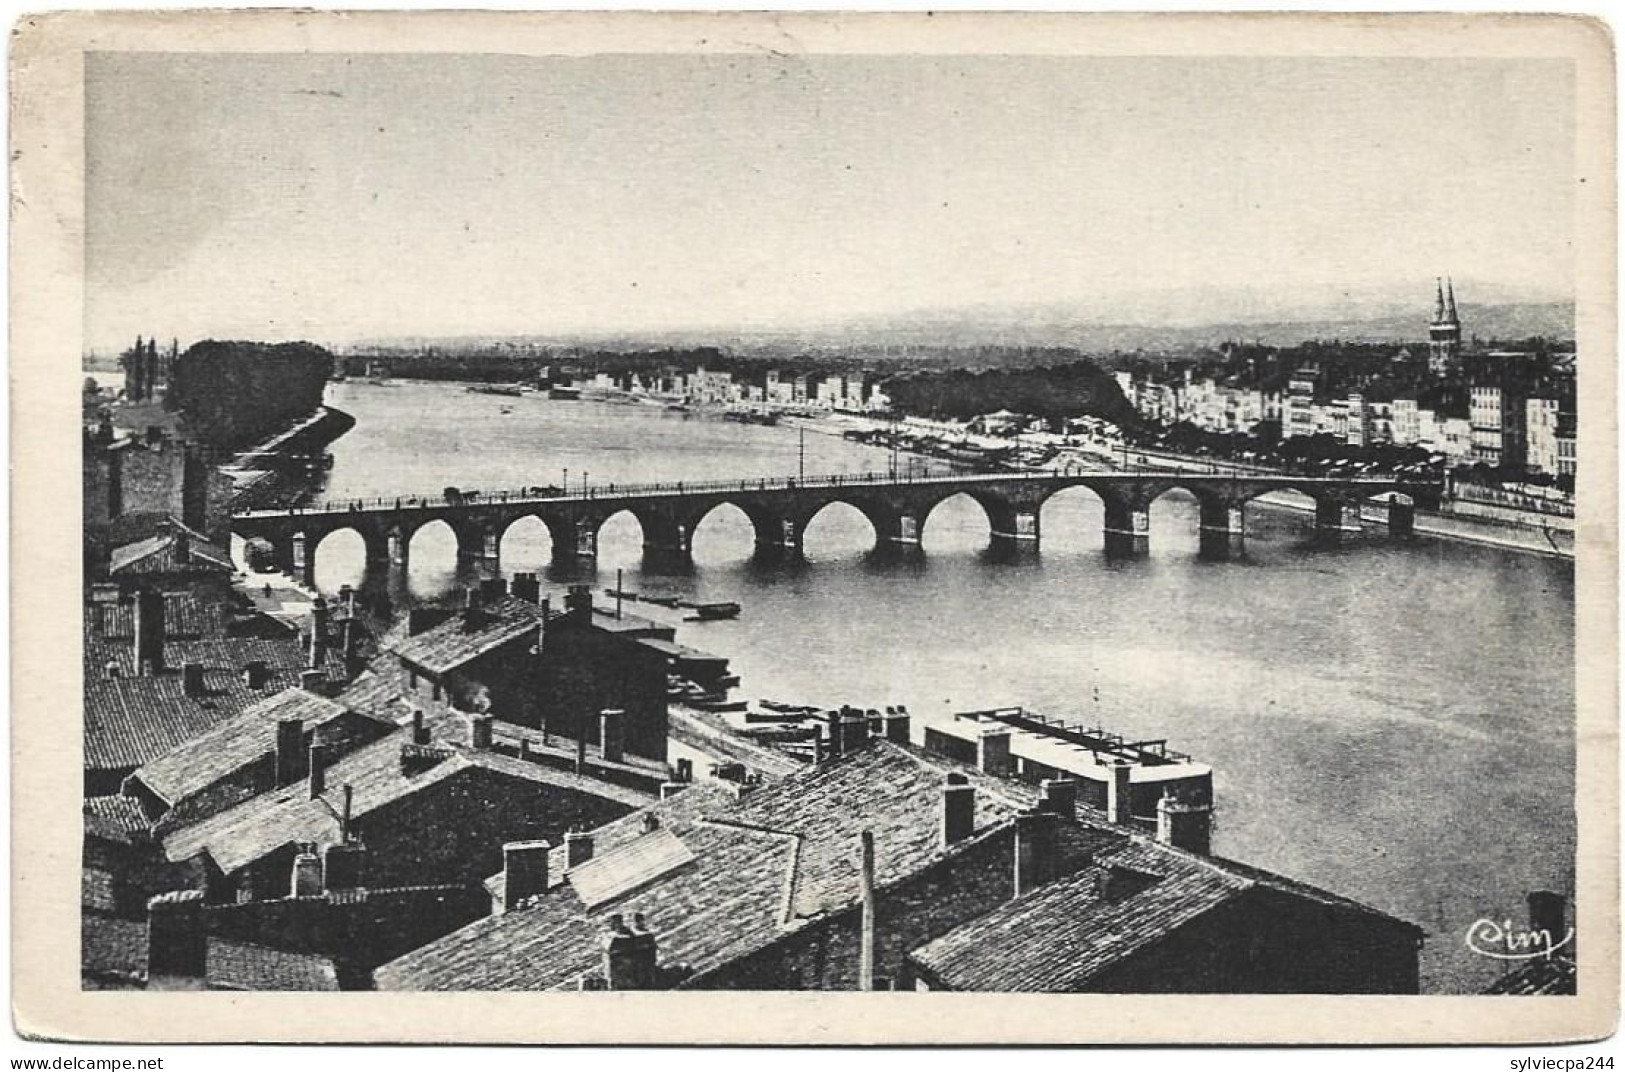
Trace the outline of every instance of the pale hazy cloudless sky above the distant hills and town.
<path fill-rule="evenodd" d="M 86 343 L 1568 299 L 1573 122 L 1540 60 L 91 54 Z"/>

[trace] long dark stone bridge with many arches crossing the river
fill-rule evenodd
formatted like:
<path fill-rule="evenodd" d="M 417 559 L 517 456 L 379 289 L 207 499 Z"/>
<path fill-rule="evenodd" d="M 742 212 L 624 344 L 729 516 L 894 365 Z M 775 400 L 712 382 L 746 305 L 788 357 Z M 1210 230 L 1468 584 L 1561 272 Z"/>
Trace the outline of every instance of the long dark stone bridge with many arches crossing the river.
<path fill-rule="evenodd" d="M 361 536 L 369 565 L 405 564 L 413 533 L 432 521 L 445 521 L 457 536 L 458 560 L 494 565 L 507 528 L 535 517 L 552 538 L 554 557 L 575 560 L 596 557 L 598 530 L 611 517 L 629 512 L 644 530 L 644 549 L 650 562 L 681 568 L 689 562 L 692 536 L 700 521 L 725 504 L 738 507 L 751 520 L 757 554 L 764 557 L 798 557 L 806 526 L 822 508 L 837 502 L 863 512 L 882 549 L 918 547 L 931 510 L 960 494 L 986 512 L 994 546 L 1037 549 L 1038 512 L 1050 495 L 1068 487 L 1089 487 L 1105 504 L 1105 551 L 1113 555 L 1144 554 L 1150 541 L 1150 504 L 1176 487 L 1185 489 L 1199 504 L 1202 552 L 1214 557 L 1228 557 L 1242 549 L 1246 533 L 1245 507 L 1266 492 L 1295 491 L 1313 499 L 1316 533 L 1329 541 L 1358 531 L 1360 505 L 1373 499 L 1388 502 L 1389 531 L 1409 534 L 1415 507 L 1436 505 L 1443 492 L 1440 482 L 1376 476 L 855 473 L 330 500 L 307 507 L 245 510 L 234 515 L 232 531 L 244 539 L 268 542 L 278 565 L 309 583 L 315 570 L 317 546 L 343 530 Z"/>

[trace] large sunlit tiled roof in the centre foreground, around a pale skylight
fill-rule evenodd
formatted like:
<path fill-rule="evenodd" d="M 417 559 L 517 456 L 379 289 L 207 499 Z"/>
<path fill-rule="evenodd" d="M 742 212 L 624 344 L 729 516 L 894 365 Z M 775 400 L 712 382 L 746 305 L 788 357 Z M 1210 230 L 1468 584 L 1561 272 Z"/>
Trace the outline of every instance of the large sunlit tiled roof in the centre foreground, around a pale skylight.
<path fill-rule="evenodd" d="M 855 905 L 860 830 L 876 838 L 876 880 L 910 875 L 946 853 L 938 817 L 942 776 L 957 765 L 887 742 L 733 799 L 694 786 L 593 832 L 595 856 L 640 838 L 678 838 L 694 861 L 592 908 L 562 882 L 535 908 L 481 919 L 382 966 L 382 989 L 554 989 L 596 965 L 609 913 L 644 913 L 661 960 L 705 971 L 790 934 L 822 913 Z M 1020 783 L 964 772 L 977 785 L 978 832 L 1035 801 Z M 855 801 L 863 801 L 861 807 Z M 957 851 L 951 849 L 951 851 Z M 562 875 L 562 848 L 549 874 Z"/>

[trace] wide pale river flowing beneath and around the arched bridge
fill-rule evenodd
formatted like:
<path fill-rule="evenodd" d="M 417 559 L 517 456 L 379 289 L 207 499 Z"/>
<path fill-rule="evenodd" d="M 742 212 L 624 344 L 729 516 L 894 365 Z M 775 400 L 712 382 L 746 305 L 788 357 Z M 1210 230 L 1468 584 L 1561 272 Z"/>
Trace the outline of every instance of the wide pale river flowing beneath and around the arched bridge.
<path fill-rule="evenodd" d="M 889 461 L 793 427 L 460 385 L 335 383 L 328 401 L 358 417 L 332 447 L 335 499 Z M 907 703 L 916 721 L 1020 703 L 1167 737 L 1214 767 L 1217 853 L 1422 924 L 1424 988 L 1477 991 L 1498 966 L 1466 950 L 1467 927 L 1523 919 L 1531 888 L 1573 892 L 1573 564 L 1432 539 L 1315 549 L 1310 523 L 1254 505 L 1245 560 L 1209 562 L 1194 500 L 1173 492 L 1152 510 L 1150 555 L 1116 562 L 1098 500 L 1074 489 L 1046 504 L 1042 554 L 1004 562 L 960 497 L 930 517 L 921 557 L 878 562 L 868 521 L 832 507 L 804 565 L 767 568 L 723 508 L 696 534 L 692 575 L 644 577 L 622 515 L 595 586 L 624 568 L 630 590 L 743 603 L 738 620 L 679 635 L 726 655 L 741 695 Z M 548 560 L 536 521 L 504 539 L 505 573 Z M 361 572 L 359 538 L 323 541 L 320 588 Z M 419 533 L 411 596 L 458 580 L 450 533 Z"/>

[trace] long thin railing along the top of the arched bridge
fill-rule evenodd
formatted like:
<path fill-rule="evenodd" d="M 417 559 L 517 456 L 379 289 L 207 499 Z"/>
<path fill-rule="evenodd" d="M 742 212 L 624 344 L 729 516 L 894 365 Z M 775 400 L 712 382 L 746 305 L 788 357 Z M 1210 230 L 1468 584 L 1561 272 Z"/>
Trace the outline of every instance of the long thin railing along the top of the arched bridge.
<path fill-rule="evenodd" d="M 1165 468 L 1128 468 L 1128 469 L 1001 469 L 994 473 L 930 473 L 930 471 L 863 471 L 863 473 L 826 473 L 817 476 L 770 476 L 756 479 L 726 481 L 655 481 L 639 484 L 585 484 L 578 487 L 530 486 L 509 487 L 494 492 L 457 491 L 457 494 L 418 492 L 405 495 L 372 495 L 361 499 L 327 499 L 301 507 L 275 510 L 244 510 L 239 518 L 255 517 L 288 517 L 288 515 L 335 515 L 335 513 L 372 513 L 380 510 L 434 510 L 445 507 L 496 507 L 496 505 L 530 505 L 552 502 L 592 502 L 596 499 L 653 499 L 663 495 L 705 495 L 757 491 L 827 491 L 830 487 L 897 487 L 915 484 L 1009 484 L 1012 481 L 1043 481 L 1071 476 L 1230 476 L 1235 479 L 1258 478 L 1292 478 L 1297 482 L 1326 484 L 1372 484 L 1380 487 L 1425 486 L 1428 481 L 1402 481 L 1384 476 L 1298 476 L 1292 473 L 1240 473 L 1228 468 L 1207 466 L 1204 469 L 1165 469 Z"/>

